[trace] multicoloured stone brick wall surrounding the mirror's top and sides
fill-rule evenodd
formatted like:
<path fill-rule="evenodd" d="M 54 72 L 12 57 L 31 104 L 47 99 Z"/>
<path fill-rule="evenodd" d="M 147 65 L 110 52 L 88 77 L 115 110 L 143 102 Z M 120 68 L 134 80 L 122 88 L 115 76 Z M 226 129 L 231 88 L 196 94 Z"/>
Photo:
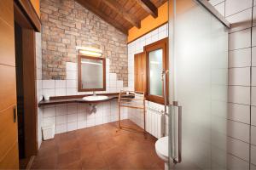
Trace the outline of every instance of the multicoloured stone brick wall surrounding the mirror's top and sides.
<path fill-rule="evenodd" d="M 43 79 L 66 79 L 76 46 L 100 48 L 110 72 L 128 86 L 127 36 L 74 0 L 41 0 Z"/>

